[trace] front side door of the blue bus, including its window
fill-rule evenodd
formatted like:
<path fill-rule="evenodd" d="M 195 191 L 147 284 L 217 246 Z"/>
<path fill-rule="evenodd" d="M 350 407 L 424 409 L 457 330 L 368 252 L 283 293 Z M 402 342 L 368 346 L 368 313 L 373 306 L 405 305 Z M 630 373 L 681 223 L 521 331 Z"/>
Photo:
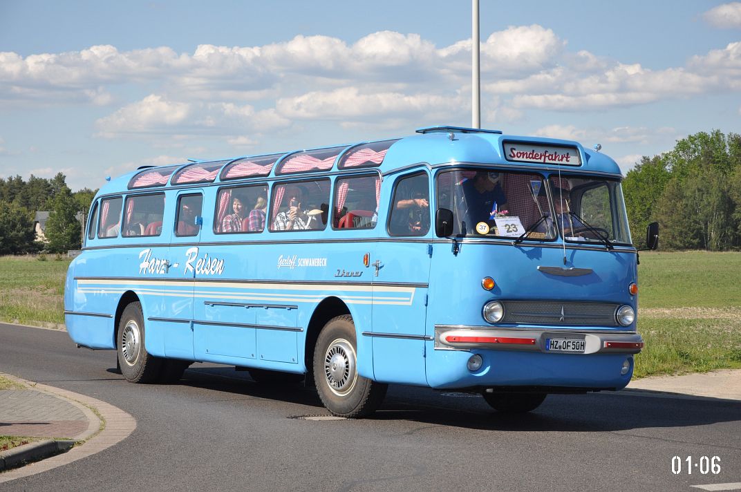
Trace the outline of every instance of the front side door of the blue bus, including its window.
<path fill-rule="evenodd" d="M 430 179 L 399 177 L 373 267 L 373 370 L 376 379 L 426 385 L 425 319 L 431 264 Z M 396 239 L 396 240 L 393 240 Z"/>

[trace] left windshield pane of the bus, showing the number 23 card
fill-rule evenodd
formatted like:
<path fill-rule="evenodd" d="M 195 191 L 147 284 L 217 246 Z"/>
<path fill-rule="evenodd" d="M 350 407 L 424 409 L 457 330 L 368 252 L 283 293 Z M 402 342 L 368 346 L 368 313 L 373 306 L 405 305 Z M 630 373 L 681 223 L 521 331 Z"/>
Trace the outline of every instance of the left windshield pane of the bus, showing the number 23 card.
<path fill-rule="evenodd" d="M 543 176 L 458 169 L 437 176 L 437 203 L 453 210 L 453 234 L 553 241 L 556 230 Z"/>

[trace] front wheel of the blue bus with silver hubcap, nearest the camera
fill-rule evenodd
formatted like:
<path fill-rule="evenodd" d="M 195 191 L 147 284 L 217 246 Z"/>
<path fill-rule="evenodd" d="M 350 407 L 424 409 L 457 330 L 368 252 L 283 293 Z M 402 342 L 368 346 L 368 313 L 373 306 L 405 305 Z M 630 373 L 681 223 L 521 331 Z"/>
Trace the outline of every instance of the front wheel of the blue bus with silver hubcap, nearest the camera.
<path fill-rule="evenodd" d="M 336 416 L 356 418 L 376 411 L 388 385 L 357 372 L 355 325 L 350 316 L 337 316 L 322 328 L 314 347 L 316 392 Z"/>

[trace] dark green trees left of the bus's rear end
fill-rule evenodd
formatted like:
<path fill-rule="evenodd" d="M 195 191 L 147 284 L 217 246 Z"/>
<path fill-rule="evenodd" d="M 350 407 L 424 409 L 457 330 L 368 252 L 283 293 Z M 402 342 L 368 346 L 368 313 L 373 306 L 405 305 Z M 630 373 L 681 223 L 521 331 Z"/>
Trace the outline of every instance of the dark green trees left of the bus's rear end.
<path fill-rule="evenodd" d="M 30 176 L 0 178 L 0 254 L 48 251 L 63 253 L 79 249 L 81 224 L 79 212 L 87 214 L 96 190 L 84 188 L 72 192 L 66 176 L 57 173 L 51 179 Z M 48 243 L 36 242 L 33 221 L 38 211 L 48 211 L 45 236 Z"/>

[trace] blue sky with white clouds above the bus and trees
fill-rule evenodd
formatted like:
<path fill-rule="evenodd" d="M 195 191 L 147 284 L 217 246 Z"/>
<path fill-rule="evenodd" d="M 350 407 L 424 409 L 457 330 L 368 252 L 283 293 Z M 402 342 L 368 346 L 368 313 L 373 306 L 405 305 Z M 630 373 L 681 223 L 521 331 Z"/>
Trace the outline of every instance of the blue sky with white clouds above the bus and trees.
<path fill-rule="evenodd" d="M 741 133 L 741 2 L 480 1 L 481 126 L 627 172 Z M 0 178 L 471 126 L 471 1 L 0 0 Z"/>

